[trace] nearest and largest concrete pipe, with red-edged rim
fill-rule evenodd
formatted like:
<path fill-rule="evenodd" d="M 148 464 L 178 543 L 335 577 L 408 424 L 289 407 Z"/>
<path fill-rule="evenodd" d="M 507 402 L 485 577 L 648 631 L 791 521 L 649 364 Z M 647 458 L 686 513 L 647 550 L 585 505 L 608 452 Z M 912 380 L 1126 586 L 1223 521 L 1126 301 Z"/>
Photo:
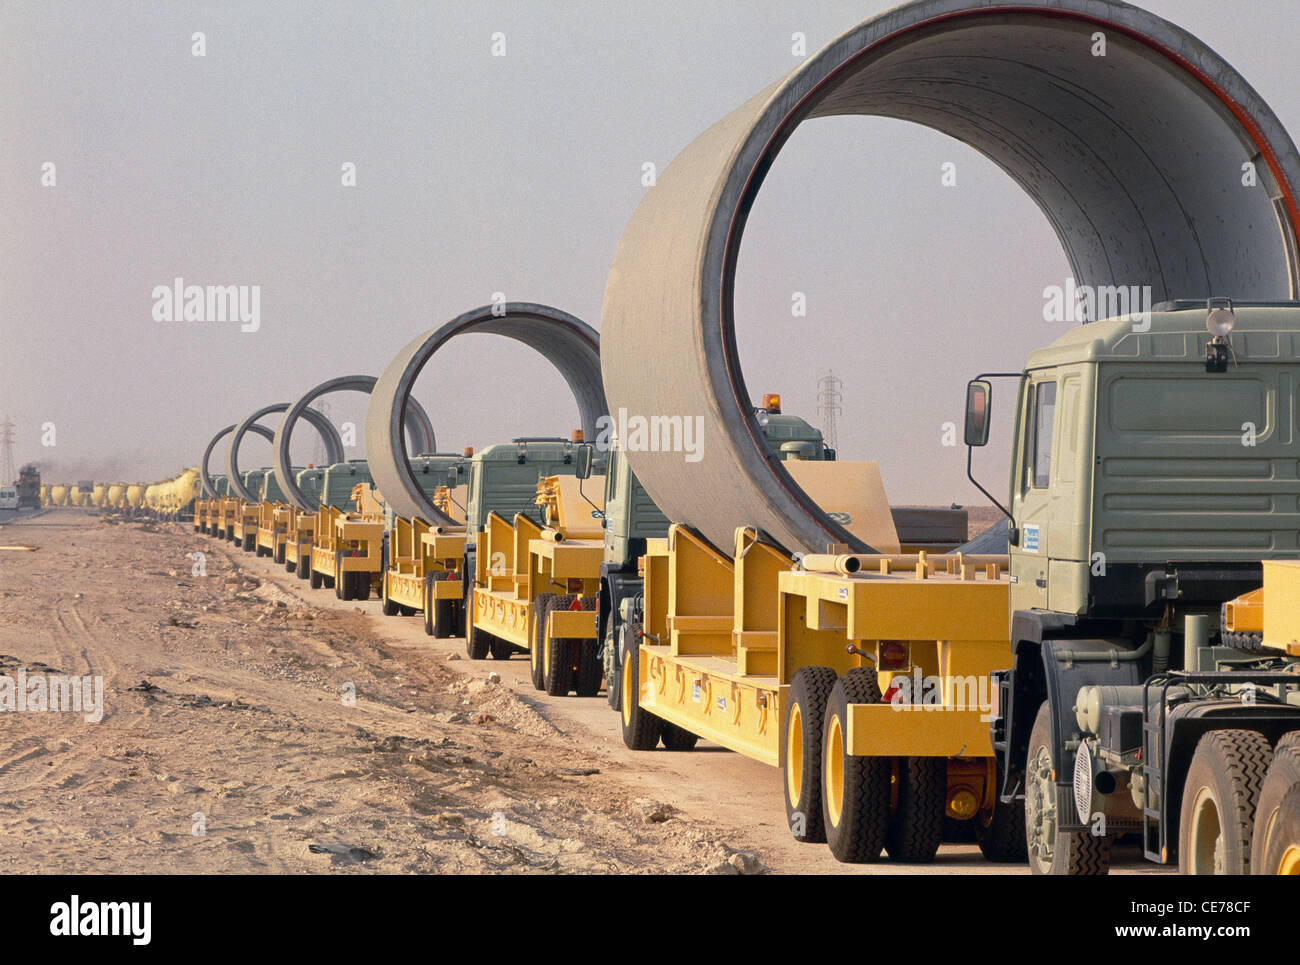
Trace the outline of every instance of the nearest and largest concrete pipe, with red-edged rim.
<path fill-rule="evenodd" d="M 1097 34 L 1105 56 L 1093 56 Z M 602 312 L 614 411 L 703 416 L 703 456 L 629 453 L 670 519 L 719 546 L 871 548 L 763 443 L 737 359 L 736 259 L 777 152 L 811 117 L 915 121 L 987 155 L 1039 204 L 1080 285 L 1153 300 L 1297 293 L 1300 159 L 1204 43 L 1118 0 L 920 0 L 870 20 L 692 142 L 637 207 Z M 1243 183 L 1253 164 L 1258 185 Z"/>

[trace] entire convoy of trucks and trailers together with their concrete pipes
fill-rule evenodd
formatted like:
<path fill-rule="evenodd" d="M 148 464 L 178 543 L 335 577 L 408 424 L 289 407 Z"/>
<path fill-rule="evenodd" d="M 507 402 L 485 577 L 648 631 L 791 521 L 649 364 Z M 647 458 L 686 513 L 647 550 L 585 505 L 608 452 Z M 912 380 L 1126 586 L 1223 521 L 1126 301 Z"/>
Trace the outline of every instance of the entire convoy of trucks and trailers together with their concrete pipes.
<path fill-rule="evenodd" d="M 1005 515 L 974 540 L 961 510 L 890 505 L 875 463 L 840 459 L 779 397 L 750 404 L 736 359 L 754 191 L 802 118 L 881 112 L 878 56 L 894 57 L 909 120 L 956 125 L 1027 186 L 1080 278 L 1252 295 L 1115 312 L 972 378 L 967 475 Z M 911 57 L 927 65 L 915 90 Z M 1080 152 L 1074 131 L 1102 103 L 1126 137 Z M 1004 126 L 953 120 L 1004 109 Z M 610 272 L 603 354 L 573 316 L 485 306 L 378 378 L 259 410 L 228 476 L 209 479 L 207 459 L 234 427 L 173 480 L 35 490 L 49 506 L 192 512 L 198 532 L 313 589 L 374 593 L 386 616 L 463 637 L 472 659 L 525 654 L 547 694 L 603 688 L 634 750 L 707 740 L 777 767 L 792 835 L 840 861 L 931 861 L 965 834 L 1036 874 L 1105 874 L 1115 841 L 1188 874 L 1300 874 L 1300 302 L 1258 295 L 1297 293 L 1295 159 L 1228 65 L 1138 8 L 918 0 L 810 56 L 666 169 Z M 1208 186 L 1243 161 L 1268 190 L 1228 216 Z M 582 428 L 425 451 L 411 386 L 464 332 L 546 355 Z M 1008 486 L 972 469 L 994 384 L 1013 401 Z M 339 386 L 373 390 L 368 459 L 337 443 L 329 466 L 292 467 L 286 416 L 278 468 L 237 472 L 244 429 L 272 438 L 257 419 Z M 616 403 L 620 427 L 629 404 L 666 432 L 698 417 L 707 458 L 592 434 Z M 692 408 L 707 419 L 671 415 Z"/>

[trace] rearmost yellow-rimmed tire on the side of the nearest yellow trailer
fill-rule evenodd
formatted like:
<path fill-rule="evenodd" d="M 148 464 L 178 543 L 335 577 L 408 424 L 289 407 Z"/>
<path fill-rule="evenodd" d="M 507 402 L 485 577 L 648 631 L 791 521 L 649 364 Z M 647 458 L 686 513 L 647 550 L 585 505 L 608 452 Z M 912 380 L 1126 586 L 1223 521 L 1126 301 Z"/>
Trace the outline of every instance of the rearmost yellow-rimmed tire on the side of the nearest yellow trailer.
<path fill-rule="evenodd" d="M 854 667 L 835 681 L 822 722 L 822 822 L 837 861 L 875 861 L 889 828 L 888 757 L 848 753 L 850 704 L 879 704 L 874 670 Z"/>

